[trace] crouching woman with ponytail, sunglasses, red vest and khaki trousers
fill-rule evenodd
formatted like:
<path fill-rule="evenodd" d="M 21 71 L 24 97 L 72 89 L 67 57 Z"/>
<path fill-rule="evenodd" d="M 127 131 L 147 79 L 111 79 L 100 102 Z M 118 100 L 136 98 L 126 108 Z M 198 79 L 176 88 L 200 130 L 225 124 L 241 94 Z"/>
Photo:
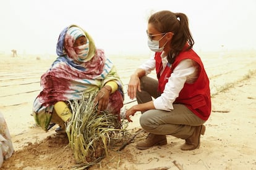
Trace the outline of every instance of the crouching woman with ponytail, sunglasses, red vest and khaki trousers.
<path fill-rule="evenodd" d="M 149 133 L 136 147 L 166 145 L 166 135 L 172 135 L 186 141 L 182 150 L 199 148 L 203 123 L 211 113 L 210 87 L 203 63 L 192 50 L 188 18 L 168 10 L 156 12 L 148 20 L 147 35 L 155 54 L 130 76 L 127 90 L 138 104 L 126 111 L 126 118 L 132 122 L 130 115 L 141 111 L 140 125 Z M 152 70 L 158 80 L 147 76 Z"/>

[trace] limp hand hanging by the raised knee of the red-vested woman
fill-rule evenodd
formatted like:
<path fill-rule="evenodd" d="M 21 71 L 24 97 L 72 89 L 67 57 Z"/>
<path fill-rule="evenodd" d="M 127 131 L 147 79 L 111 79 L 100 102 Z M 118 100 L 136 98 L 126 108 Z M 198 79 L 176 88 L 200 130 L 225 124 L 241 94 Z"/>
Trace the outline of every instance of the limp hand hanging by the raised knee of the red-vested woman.
<path fill-rule="evenodd" d="M 136 98 L 136 93 L 138 91 L 141 91 L 140 89 L 140 78 L 138 75 L 132 75 L 130 76 L 130 81 L 128 84 L 127 94 L 130 97 L 130 99 Z"/>

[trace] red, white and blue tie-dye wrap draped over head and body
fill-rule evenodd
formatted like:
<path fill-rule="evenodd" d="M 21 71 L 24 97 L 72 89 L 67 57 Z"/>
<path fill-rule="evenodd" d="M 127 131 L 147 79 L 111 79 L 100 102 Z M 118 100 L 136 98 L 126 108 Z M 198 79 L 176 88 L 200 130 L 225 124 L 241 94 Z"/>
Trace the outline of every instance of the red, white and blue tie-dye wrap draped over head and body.
<path fill-rule="evenodd" d="M 85 36 L 90 45 L 88 55 L 82 62 L 74 48 L 75 39 L 80 36 Z M 33 103 L 36 123 L 46 130 L 56 102 L 80 100 L 82 95 L 98 91 L 108 81 L 118 84 L 118 91 L 109 97 L 108 108 L 111 113 L 119 114 L 124 98 L 121 79 L 113 62 L 105 57 L 101 49 L 96 49 L 93 39 L 86 31 L 77 25 L 64 28 L 59 35 L 56 52 L 59 57 L 41 76 L 43 90 Z"/>

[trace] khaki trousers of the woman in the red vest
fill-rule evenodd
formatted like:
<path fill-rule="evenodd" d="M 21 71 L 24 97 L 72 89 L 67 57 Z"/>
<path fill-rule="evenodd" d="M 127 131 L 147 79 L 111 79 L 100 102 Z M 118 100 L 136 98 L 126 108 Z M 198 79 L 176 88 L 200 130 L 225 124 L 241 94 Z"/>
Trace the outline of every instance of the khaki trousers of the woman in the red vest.
<path fill-rule="evenodd" d="M 148 76 L 140 78 L 142 92 L 137 91 L 137 102 L 145 103 L 161 94 L 158 81 Z M 172 135 L 181 139 L 192 136 L 195 126 L 205 123 L 185 105 L 174 104 L 171 111 L 147 110 L 140 116 L 140 126 L 152 134 Z"/>

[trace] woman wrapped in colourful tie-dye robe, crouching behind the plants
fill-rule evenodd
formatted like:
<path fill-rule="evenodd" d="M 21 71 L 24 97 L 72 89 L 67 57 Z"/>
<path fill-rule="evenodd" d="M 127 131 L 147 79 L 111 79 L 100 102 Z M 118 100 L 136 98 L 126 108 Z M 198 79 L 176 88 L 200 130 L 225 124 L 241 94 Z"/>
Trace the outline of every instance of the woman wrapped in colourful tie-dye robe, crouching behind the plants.
<path fill-rule="evenodd" d="M 116 67 L 92 37 L 77 25 L 64 28 L 59 35 L 57 59 L 41 76 L 40 94 L 33 103 L 36 123 L 48 131 L 50 123 L 64 127 L 72 113 L 67 101 L 80 100 L 93 92 L 98 110 L 108 110 L 120 120 L 124 94 Z"/>

